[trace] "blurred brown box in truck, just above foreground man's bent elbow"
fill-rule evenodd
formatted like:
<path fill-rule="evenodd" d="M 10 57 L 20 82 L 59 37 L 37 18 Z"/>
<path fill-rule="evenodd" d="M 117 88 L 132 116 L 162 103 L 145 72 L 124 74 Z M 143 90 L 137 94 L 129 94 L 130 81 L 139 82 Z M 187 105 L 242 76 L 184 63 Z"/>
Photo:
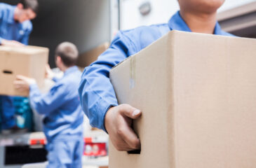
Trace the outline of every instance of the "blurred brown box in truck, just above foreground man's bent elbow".
<path fill-rule="evenodd" d="M 77 61 L 77 66 L 86 67 L 89 66 L 91 63 L 97 60 L 97 57 L 105 52 L 109 48 L 109 43 L 102 43 L 101 45 L 89 50 L 87 52 L 83 52 L 83 54 L 79 55 L 79 59 Z"/>

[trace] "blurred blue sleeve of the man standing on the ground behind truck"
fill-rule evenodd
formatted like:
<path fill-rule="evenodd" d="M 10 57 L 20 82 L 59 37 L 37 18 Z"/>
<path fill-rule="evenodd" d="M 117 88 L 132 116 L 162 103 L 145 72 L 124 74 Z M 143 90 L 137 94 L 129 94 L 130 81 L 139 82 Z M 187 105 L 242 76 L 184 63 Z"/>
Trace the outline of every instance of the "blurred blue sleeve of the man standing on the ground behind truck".
<path fill-rule="evenodd" d="M 63 84 L 53 86 L 47 94 L 41 94 L 36 84 L 29 86 L 29 102 L 34 110 L 47 115 L 65 104 L 67 88 Z"/>

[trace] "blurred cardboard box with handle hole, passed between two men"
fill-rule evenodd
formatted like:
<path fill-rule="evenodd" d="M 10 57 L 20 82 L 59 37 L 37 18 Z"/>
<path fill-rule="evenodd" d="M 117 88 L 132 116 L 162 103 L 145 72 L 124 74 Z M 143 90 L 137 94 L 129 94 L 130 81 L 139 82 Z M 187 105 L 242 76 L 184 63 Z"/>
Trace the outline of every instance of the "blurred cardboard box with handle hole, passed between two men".
<path fill-rule="evenodd" d="M 0 94 L 27 96 L 28 92 L 15 90 L 13 81 L 17 75 L 35 78 L 43 86 L 48 48 L 26 46 L 22 48 L 0 46 Z"/>

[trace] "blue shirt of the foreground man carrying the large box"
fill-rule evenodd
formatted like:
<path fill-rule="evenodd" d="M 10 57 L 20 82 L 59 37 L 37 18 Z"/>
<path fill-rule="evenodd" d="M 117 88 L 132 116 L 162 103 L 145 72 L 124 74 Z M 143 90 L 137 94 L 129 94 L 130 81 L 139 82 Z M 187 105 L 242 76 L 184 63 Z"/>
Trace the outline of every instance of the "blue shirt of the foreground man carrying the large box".
<path fill-rule="evenodd" d="M 119 31 L 109 49 L 100 55 L 96 62 L 83 71 L 79 86 L 81 105 L 90 125 L 105 130 L 105 114 L 111 106 L 117 106 L 114 88 L 109 80 L 109 70 L 130 55 L 140 52 L 170 30 L 191 31 L 177 12 L 168 24 L 138 27 Z M 233 36 L 222 31 L 216 23 L 214 34 Z"/>

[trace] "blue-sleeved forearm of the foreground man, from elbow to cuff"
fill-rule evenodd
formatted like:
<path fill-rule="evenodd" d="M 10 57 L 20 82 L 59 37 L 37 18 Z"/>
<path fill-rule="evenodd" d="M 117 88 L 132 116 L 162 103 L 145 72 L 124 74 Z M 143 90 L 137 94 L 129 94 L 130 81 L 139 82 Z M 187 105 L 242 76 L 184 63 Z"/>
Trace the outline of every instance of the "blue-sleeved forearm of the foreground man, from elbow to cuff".
<path fill-rule="evenodd" d="M 117 100 L 109 78 L 92 69 L 88 67 L 82 76 L 79 87 L 81 106 L 90 125 L 105 130 L 105 114 L 111 106 L 117 105 Z"/>

